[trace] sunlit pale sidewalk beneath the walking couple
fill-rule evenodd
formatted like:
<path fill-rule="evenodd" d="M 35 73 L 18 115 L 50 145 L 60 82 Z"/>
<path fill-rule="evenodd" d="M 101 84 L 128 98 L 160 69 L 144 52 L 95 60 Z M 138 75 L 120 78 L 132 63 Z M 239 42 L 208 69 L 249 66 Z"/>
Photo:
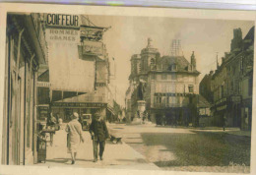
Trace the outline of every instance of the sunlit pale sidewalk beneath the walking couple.
<path fill-rule="evenodd" d="M 106 142 L 104 159 L 93 162 L 93 143 L 88 131 L 84 132 L 85 143 L 81 143 L 75 165 L 71 165 L 70 153 L 67 153 L 67 134 L 64 130 L 57 131 L 54 135 L 53 146 L 47 145 L 46 163 L 38 163 L 36 166 L 72 166 L 86 168 L 119 168 L 119 169 L 160 169 L 154 163 L 123 143 L 114 145 Z"/>

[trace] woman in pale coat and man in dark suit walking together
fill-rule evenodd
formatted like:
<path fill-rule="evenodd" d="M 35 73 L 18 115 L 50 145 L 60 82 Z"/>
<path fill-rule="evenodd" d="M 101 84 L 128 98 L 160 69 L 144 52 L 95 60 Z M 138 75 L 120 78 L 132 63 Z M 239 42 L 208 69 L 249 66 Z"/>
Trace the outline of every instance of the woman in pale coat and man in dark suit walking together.
<path fill-rule="evenodd" d="M 76 156 L 80 143 L 84 143 L 82 125 L 78 121 L 79 114 L 74 112 L 72 120 L 66 126 L 67 135 L 67 147 L 68 152 L 71 153 L 72 164 L 76 162 Z M 105 146 L 105 140 L 109 137 L 108 130 L 105 122 L 101 119 L 100 113 L 96 113 L 93 118 L 93 122 L 90 125 L 89 132 L 91 134 L 94 146 L 94 162 L 98 159 L 98 145 L 99 145 L 99 159 L 103 160 L 103 151 Z"/>

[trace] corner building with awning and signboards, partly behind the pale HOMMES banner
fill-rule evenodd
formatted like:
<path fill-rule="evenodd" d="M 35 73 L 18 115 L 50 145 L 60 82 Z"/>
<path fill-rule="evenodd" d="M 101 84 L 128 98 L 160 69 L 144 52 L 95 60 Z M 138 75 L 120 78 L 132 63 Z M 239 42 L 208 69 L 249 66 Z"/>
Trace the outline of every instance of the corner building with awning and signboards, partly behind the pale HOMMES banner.
<path fill-rule="evenodd" d="M 80 25 L 80 44 L 77 45 L 80 60 L 92 62 L 95 75 L 84 78 L 86 82 L 95 82 L 90 91 L 61 91 L 52 90 L 51 111 L 64 121 L 70 121 L 73 112 L 92 114 L 100 112 L 105 120 L 116 118 L 113 110 L 114 99 L 110 90 L 110 63 L 106 47 L 102 40 L 104 28 Z M 90 31 L 90 32 L 89 32 Z M 94 80 L 92 80 L 94 79 Z M 69 94 L 69 95 L 65 95 Z"/>

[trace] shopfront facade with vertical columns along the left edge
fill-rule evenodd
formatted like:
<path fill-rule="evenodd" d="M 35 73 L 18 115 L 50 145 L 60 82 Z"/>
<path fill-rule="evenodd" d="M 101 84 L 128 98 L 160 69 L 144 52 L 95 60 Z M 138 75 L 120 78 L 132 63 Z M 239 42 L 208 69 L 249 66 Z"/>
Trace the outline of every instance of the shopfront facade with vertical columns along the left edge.
<path fill-rule="evenodd" d="M 2 164 L 36 162 L 36 82 L 47 44 L 40 14 L 7 15 Z"/>

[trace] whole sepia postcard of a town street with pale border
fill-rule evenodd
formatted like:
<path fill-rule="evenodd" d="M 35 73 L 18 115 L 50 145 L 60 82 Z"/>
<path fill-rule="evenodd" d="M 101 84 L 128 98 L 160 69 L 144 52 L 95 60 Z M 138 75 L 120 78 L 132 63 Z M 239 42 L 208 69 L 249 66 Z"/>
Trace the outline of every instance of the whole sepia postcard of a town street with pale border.
<path fill-rule="evenodd" d="M 254 28 L 8 12 L 1 164 L 250 173 Z"/>

